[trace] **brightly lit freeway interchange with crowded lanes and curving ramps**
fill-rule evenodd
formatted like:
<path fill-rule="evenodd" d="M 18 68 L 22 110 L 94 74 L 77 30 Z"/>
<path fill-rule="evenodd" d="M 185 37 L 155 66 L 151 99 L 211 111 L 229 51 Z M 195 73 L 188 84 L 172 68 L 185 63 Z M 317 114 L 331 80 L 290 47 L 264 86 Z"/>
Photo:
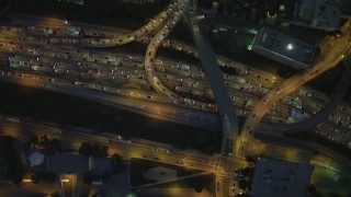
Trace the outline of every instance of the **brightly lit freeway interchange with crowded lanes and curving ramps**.
<path fill-rule="evenodd" d="M 168 42 L 165 40 L 167 35 L 181 20 L 184 4 L 182 1 L 172 2 L 148 24 L 133 32 L 10 13 L 9 16 L 18 20 L 1 24 L 0 50 L 5 65 L 0 68 L 0 79 L 117 105 L 163 120 L 218 130 L 223 117 L 216 113 L 222 111 L 220 107 L 217 109 L 215 103 L 194 101 L 179 94 L 191 91 L 194 95 L 215 100 L 201 66 L 156 57 L 157 49 L 163 47 L 161 44 Z M 80 35 L 83 28 L 88 32 L 86 36 Z M 287 80 L 217 57 L 220 67 L 233 67 L 238 71 L 237 76 L 223 73 L 223 78 L 236 114 L 247 119 L 239 139 L 233 144 L 235 155 L 219 157 L 216 161 L 244 162 L 246 148 L 256 141 L 252 134 L 260 121 L 298 123 L 299 119 L 291 117 L 292 111 L 303 113 L 303 119 L 313 118 L 321 111 L 329 97 L 302 85 L 336 66 L 348 54 L 347 39 L 328 38 L 329 44 L 338 47 L 328 51 L 324 60 L 304 74 Z M 103 49 L 137 40 L 149 42 L 144 57 Z M 178 42 L 170 40 L 170 47 L 186 48 L 188 53 L 196 54 L 192 46 Z M 138 89 L 131 89 L 128 84 L 137 84 Z M 303 108 L 292 106 L 292 102 L 302 102 Z M 350 114 L 350 106 L 341 103 L 327 120 L 317 125 L 315 131 L 348 144 Z M 213 165 L 202 170 L 210 169 L 213 171 Z M 216 169 L 219 169 L 219 175 L 230 177 L 228 174 L 231 172 L 224 172 L 219 165 Z M 228 184 L 223 188 L 222 196 L 228 196 L 225 195 L 231 192 Z"/>

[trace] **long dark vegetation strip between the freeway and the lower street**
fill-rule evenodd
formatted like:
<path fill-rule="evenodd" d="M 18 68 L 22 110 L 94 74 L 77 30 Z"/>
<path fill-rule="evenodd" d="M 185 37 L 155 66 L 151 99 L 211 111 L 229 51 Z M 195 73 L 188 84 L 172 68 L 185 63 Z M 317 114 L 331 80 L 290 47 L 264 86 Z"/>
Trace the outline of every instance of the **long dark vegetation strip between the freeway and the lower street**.
<path fill-rule="evenodd" d="M 91 128 L 120 134 L 124 138 L 143 138 L 197 149 L 204 153 L 219 151 L 222 132 L 166 123 L 82 99 L 0 83 L 0 112 L 9 116 L 31 117 L 36 121 L 55 121 L 64 126 Z"/>

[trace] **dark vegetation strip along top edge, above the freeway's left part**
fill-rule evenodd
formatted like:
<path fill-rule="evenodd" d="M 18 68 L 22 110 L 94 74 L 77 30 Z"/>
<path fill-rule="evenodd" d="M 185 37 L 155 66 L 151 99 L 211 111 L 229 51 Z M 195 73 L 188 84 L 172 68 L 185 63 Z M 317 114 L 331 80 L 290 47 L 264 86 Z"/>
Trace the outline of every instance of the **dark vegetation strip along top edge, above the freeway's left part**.
<path fill-rule="evenodd" d="M 57 0 L 10 0 L 10 10 L 68 21 L 137 28 L 158 14 L 170 0 L 135 4 L 121 0 L 84 0 L 83 5 Z M 103 19 L 103 20 L 102 20 Z"/>

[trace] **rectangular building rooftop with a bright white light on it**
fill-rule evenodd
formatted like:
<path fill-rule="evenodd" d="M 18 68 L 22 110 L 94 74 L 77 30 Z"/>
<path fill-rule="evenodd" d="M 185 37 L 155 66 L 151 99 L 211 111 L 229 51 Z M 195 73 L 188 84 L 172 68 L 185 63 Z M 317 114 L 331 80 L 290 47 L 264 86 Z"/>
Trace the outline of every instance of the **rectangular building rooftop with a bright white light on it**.
<path fill-rule="evenodd" d="M 313 63 L 316 47 L 262 27 L 254 37 L 252 50 L 295 68 L 306 68 Z"/>

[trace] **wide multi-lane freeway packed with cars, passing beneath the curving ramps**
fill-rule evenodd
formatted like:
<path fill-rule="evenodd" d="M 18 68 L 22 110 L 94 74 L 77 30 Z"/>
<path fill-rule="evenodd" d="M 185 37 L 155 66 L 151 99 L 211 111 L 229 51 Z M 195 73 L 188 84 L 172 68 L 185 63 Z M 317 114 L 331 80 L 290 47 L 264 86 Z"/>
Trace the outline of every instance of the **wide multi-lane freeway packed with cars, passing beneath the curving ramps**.
<path fill-rule="evenodd" d="M 31 21 L 27 18 L 26 21 Z M 50 21 L 52 20 L 44 20 Z M 55 20 L 54 20 L 55 21 Z M 23 22 L 22 22 L 23 23 Z M 34 22 L 31 22 L 33 24 Z M 43 26 L 50 27 L 50 24 L 43 24 Z M 54 24 L 64 24 L 64 22 L 56 22 Z M 81 24 L 82 25 L 82 24 Z M 83 26 L 83 25 L 82 25 Z M 77 85 L 84 86 L 94 86 L 95 90 L 100 88 L 102 91 L 112 92 L 115 89 L 114 86 L 120 86 L 126 82 L 133 83 L 141 83 L 147 88 L 147 79 L 145 77 L 145 68 L 143 58 L 139 59 L 135 57 L 135 55 L 120 55 L 116 56 L 111 54 L 110 51 L 97 51 L 93 49 L 75 49 L 73 47 L 65 46 L 66 43 L 73 43 L 72 40 L 77 38 L 65 38 L 61 44 L 49 44 L 48 47 L 45 47 L 45 39 L 47 42 L 47 35 L 36 34 L 34 36 L 31 33 L 33 30 L 37 30 L 42 32 L 46 30 L 46 27 L 35 27 L 32 26 L 31 30 L 25 30 L 23 27 L 15 26 L 14 27 L 5 27 L 3 32 L 5 33 L 4 37 L 2 37 L 3 43 L 5 43 L 4 51 L 10 53 L 16 51 L 14 57 L 11 57 L 13 69 L 20 71 L 19 76 L 23 71 L 27 72 L 29 70 L 25 68 L 32 68 L 34 73 L 46 73 L 49 76 L 57 74 L 57 78 L 61 81 L 69 77 L 67 82 L 76 83 Z M 65 25 L 64 25 L 65 27 Z M 8 30 L 9 28 L 9 30 Z M 69 27 L 71 28 L 71 26 Z M 104 34 L 106 31 L 97 30 L 94 31 L 91 27 L 88 27 L 91 32 L 90 34 Z M 61 31 L 58 27 L 56 31 Z M 112 30 L 107 30 L 112 32 Z M 7 33 L 8 32 L 8 33 Z M 13 34 L 15 32 L 16 34 Z M 66 32 L 65 30 L 63 32 Z M 93 33 L 95 32 L 95 33 Z M 125 32 L 125 31 L 124 31 Z M 111 33 L 112 34 L 112 33 Z M 7 36 L 8 35 L 8 36 Z M 26 38 L 25 40 L 21 40 L 15 44 L 18 38 L 22 37 Z M 32 36 L 31 36 L 32 35 Z M 8 38 L 7 38 L 8 37 Z M 37 37 L 44 42 L 37 45 L 23 45 L 26 40 L 36 39 Z M 53 39 L 53 38 L 52 38 Z M 11 44 L 11 42 L 13 44 Z M 186 50 L 191 50 L 192 47 L 188 47 L 184 45 L 180 45 L 177 42 L 174 43 L 176 48 L 183 48 Z M 67 45 L 68 45 L 67 44 Z M 56 45 L 59 45 L 59 49 L 57 49 Z M 69 55 L 67 55 L 69 53 Z M 23 55 L 21 55 L 23 54 Z M 13 55 L 10 55 L 13 56 Z M 39 57 L 39 58 L 37 58 Z M 97 61 L 97 62 L 95 62 Z M 135 61 L 135 62 L 133 62 Z M 207 96 L 214 99 L 211 89 L 208 89 L 208 84 L 206 82 L 206 76 L 202 72 L 199 67 L 194 66 L 184 66 L 181 62 L 176 62 L 170 65 L 167 60 L 160 61 L 158 59 L 155 60 L 155 68 L 157 69 L 156 74 L 159 77 L 160 82 L 162 82 L 168 88 L 172 88 L 176 90 L 181 90 L 183 92 L 192 91 L 193 94 L 199 96 L 203 95 L 203 92 L 207 94 Z M 230 91 L 230 99 L 233 104 L 236 107 L 237 113 L 240 116 L 247 116 L 257 100 L 257 95 L 264 94 L 267 91 L 272 89 L 276 83 L 280 83 L 282 79 L 274 77 L 272 74 L 265 73 L 263 71 L 258 71 L 248 68 L 247 66 L 242 66 L 241 63 L 233 62 L 228 59 L 218 57 L 218 62 L 223 67 L 231 67 L 238 70 L 238 74 L 233 77 L 230 74 L 224 74 L 228 89 Z M 54 66 L 53 66 L 54 63 Z M 80 63 L 80 65 L 79 65 Z M 181 68 L 181 70 L 179 70 Z M 21 70 L 24 69 L 24 70 Z M 52 71 L 52 72 L 50 72 Z M 161 71 L 161 72 L 160 72 Z M 53 73 L 55 72 L 55 73 Z M 170 74 L 168 74 L 170 73 Z M 176 76 L 174 76 L 176 74 Z M 76 78 L 76 79 L 75 79 Z M 79 80 L 77 78 L 80 78 Z M 81 79 L 83 78 L 83 79 Z M 88 81 L 87 81 L 87 78 Z M 69 81 L 70 80 L 70 81 Z M 86 81 L 84 81 L 86 80 Z M 97 82 L 97 83 L 94 83 Z M 107 84 L 110 83 L 110 84 Z M 112 86 L 111 86 L 112 85 Z M 172 90 L 174 91 L 174 90 Z M 312 92 L 312 93 L 310 93 Z M 154 93 L 151 93 L 154 94 Z M 313 94 L 313 97 L 306 96 Z M 147 95 L 147 94 L 144 94 Z M 304 103 L 304 118 L 312 117 L 313 114 L 320 111 L 320 108 L 326 105 L 327 96 L 319 94 L 312 90 L 298 89 L 296 93 L 291 94 L 291 97 L 284 97 L 280 102 L 276 103 L 276 106 L 270 108 L 269 116 L 264 117 L 265 123 L 295 123 L 296 119 L 290 117 L 291 115 L 287 112 L 290 108 L 290 100 L 299 100 Z M 167 99 L 166 99 L 167 100 Z M 165 100 L 165 101 L 166 101 Z M 314 100 L 314 101 L 310 101 Z M 186 105 L 188 107 L 195 107 L 200 109 L 208 109 L 216 111 L 216 105 L 213 103 L 202 104 L 201 102 L 190 101 L 189 103 L 193 103 L 192 105 Z M 174 101 L 173 101 L 174 103 Z M 184 102 L 183 102 L 184 103 Z M 174 104 L 181 104 L 180 102 L 176 102 Z M 185 103 L 186 104 L 186 103 Z M 286 109 L 286 112 L 284 112 Z M 341 121 L 344 121 L 348 117 L 343 117 Z M 348 126 L 348 123 L 343 124 L 343 126 Z"/>

